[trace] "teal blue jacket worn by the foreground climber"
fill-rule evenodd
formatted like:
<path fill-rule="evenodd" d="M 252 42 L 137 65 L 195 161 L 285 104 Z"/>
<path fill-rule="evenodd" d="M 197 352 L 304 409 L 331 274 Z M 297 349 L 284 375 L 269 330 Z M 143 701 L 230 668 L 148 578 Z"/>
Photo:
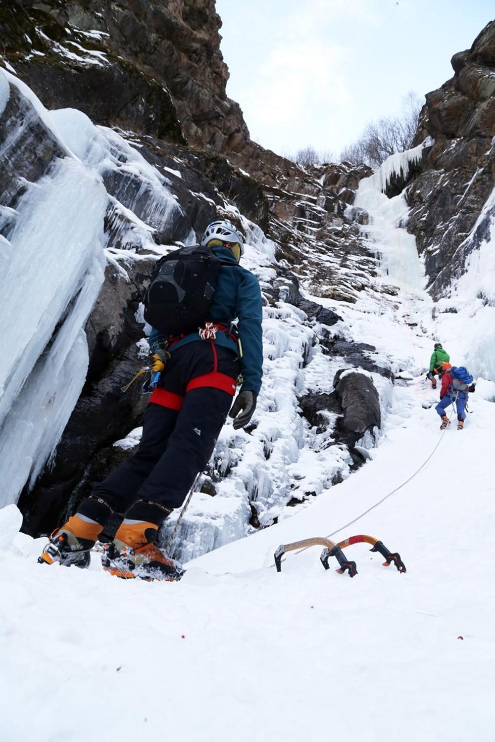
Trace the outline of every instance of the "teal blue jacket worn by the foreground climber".
<path fill-rule="evenodd" d="M 258 394 L 261 388 L 261 377 L 263 375 L 263 335 L 261 321 L 263 309 L 261 302 L 260 284 L 258 278 L 237 264 L 235 256 L 226 247 L 214 247 L 213 252 L 222 260 L 232 263 L 232 266 L 221 266 L 218 276 L 217 288 L 215 289 L 212 303 L 210 305 L 209 321 L 216 324 L 229 324 L 237 319 L 242 358 L 240 368 L 243 375 L 241 392 L 255 392 Z M 152 329 L 148 342 L 153 351 L 154 347 L 167 338 L 157 329 Z M 191 332 L 174 343 L 171 352 L 186 343 L 201 340 L 198 332 Z M 217 331 L 215 344 L 231 348 L 238 354 L 237 343 L 221 330 Z"/>

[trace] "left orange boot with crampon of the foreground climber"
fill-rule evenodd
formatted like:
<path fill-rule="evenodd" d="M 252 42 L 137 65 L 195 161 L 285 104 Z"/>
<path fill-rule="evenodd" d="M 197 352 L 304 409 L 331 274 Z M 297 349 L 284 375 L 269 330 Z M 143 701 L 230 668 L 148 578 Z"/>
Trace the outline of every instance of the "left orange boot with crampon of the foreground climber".
<path fill-rule="evenodd" d="M 90 551 L 103 530 L 99 523 L 88 523 L 74 515 L 61 528 L 56 528 L 38 557 L 39 564 L 59 562 L 64 567 L 74 565 L 82 569 L 89 567 Z"/>

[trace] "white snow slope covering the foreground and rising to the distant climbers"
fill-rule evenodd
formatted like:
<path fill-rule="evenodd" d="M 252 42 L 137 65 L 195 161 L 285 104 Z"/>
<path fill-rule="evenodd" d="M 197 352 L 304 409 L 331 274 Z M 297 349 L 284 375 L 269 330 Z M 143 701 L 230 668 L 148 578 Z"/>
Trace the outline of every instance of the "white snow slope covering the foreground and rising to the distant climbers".
<path fill-rule="evenodd" d="M 391 211 L 378 229 L 380 207 L 370 231 L 389 255 L 403 218 Z M 465 296 L 482 280 L 480 266 L 493 271 L 489 243 L 481 250 L 456 288 Z M 292 517 L 192 560 L 180 582 L 148 583 L 108 576 L 98 554 L 88 571 L 38 565 L 45 539 L 19 533 L 14 505 L 0 510 L 2 742 L 494 739 L 495 383 L 485 370 L 495 342 L 488 321 L 482 338 L 473 332 L 491 307 L 463 305 L 456 321 L 448 313 L 435 324 L 411 278 L 421 272 L 409 265 L 396 301 L 339 306 L 343 332 L 352 328 L 401 371 L 381 390 L 388 409 L 378 446 Z M 439 431 L 438 392 L 421 375 L 437 338 L 454 364 L 471 352 L 479 377 L 462 432 L 455 415 Z M 306 381 L 320 363 L 315 355 Z M 286 373 L 292 384 L 290 364 Z M 281 391 L 278 399 L 286 424 Z M 301 455 L 298 476 L 318 479 L 326 456 Z M 324 571 L 318 547 L 287 554 L 275 571 L 278 545 L 359 533 L 399 551 L 407 573 L 384 568 L 363 544 L 345 551 L 357 562 L 352 580 L 335 574 L 335 560 Z"/>

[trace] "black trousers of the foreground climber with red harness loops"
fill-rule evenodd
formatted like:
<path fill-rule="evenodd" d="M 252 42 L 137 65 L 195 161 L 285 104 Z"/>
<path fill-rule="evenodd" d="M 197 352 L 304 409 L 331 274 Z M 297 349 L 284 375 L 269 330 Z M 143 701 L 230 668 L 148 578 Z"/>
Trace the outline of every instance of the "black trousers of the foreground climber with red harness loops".
<path fill-rule="evenodd" d="M 150 501 L 165 508 L 180 508 L 197 474 L 212 456 L 232 404 L 239 370 L 240 363 L 232 351 L 207 341 L 186 344 L 172 352 L 160 380 L 163 392 L 156 398 L 166 401 L 169 394 L 171 404 L 181 404 L 180 409 L 155 404 L 151 396 L 137 453 L 95 485 L 91 498 L 81 503 L 78 512 L 102 525 L 111 510 L 160 525 L 165 513 L 160 514 L 160 508 L 150 506 Z M 224 385 L 230 378 L 230 392 L 214 387 L 188 390 L 188 384 L 206 376 L 206 383 L 214 384 L 215 374 Z"/>

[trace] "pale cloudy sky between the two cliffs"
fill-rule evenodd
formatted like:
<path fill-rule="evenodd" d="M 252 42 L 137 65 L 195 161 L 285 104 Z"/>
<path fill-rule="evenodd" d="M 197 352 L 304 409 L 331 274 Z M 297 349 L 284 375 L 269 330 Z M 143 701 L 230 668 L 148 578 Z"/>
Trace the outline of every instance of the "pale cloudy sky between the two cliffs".
<path fill-rule="evenodd" d="M 494 0 L 216 0 L 227 94 L 255 142 L 337 156 L 367 122 L 439 88 Z"/>

